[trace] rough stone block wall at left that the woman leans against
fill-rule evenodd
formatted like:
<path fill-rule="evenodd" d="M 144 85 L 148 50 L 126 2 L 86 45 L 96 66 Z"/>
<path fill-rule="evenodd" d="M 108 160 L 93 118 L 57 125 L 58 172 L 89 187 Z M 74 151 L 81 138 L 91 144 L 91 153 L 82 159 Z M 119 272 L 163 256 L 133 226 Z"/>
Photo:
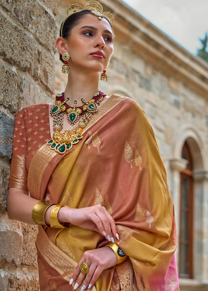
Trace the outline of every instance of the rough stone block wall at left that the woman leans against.
<path fill-rule="evenodd" d="M 36 226 L 11 221 L 6 196 L 15 116 L 54 92 L 59 1 L 0 0 L 0 290 L 39 290 Z"/>

